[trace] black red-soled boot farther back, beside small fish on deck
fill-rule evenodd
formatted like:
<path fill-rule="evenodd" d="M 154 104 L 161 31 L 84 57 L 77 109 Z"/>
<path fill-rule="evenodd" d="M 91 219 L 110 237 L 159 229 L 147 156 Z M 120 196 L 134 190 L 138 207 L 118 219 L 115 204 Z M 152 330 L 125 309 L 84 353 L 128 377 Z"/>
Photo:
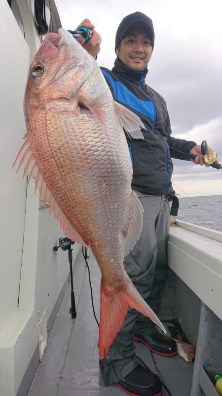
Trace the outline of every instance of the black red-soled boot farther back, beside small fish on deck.
<path fill-rule="evenodd" d="M 177 354 L 177 344 L 173 338 L 164 336 L 158 331 L 149 335 L 137 335 L 134 337 L 134 341 L 140 341 L 150 351 L 157 353 L 162 356 L 174 356 Z"/>

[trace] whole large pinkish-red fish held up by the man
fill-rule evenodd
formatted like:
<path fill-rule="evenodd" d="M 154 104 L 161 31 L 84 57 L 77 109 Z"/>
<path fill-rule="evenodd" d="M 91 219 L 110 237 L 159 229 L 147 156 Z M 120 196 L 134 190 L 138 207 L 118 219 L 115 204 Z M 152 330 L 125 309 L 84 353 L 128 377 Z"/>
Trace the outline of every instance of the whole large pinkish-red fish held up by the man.
<path fill-rule="evenodd" d="M 123 265 L 143 217 L 123 128 L 143 138 L 140 119 L 113 101 L 96 61 L 63 29 L 46 36 L 31 64 L 24 112 L 18 156 L 25 174 L 35 178 L 64 233 L 90 246 L 101 269 L 100 358 L 130 307 L 164 330 Z"/>

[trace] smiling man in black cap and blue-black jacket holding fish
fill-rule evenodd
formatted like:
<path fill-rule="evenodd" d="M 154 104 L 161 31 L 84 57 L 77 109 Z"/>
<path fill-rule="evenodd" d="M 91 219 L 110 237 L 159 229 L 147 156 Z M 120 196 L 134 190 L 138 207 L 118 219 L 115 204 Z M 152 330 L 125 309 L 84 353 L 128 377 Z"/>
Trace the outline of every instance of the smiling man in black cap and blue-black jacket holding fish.
<path fill-rule="evenodd" d="M 94 28 L 87 19 L 81 25 Z M 81 44 L 83 40 L 79 39 Z M 101 38 L 95 32 L 83 46 L 96 57 L 100 43 Z M 160 292 L 167 279 L 169 200 L 174 197 L 171 157 L 187 160 L 182 151 L 195 154 L 196 164 L 203 165 L 204 160 L 200 145 L 171 136 L 166 103 L 145 84 L 153 46 L 151 19 L 141 12 L 130 14 L 116 32 L 114 67 L 111 71 L 103 67 L 101 70 L 113 98 L 137 114 L 146 127 L 142 131 L 144 140 L 126 136 L 133 165 L 132 188 L 144 208 L 144 225 L 138 242 L 124 259 L 124 266 L 142 297 L 158 313 Z M 174 340 L 161 335 L 147 317 L 130 309 L 108 355 L 100 361 L 104 383 L 106 386 L 116 383 L 129 395 L 160 396 L 161 381 L 136 356 L 134 341 L 161 355 L 177 353 Z"/>

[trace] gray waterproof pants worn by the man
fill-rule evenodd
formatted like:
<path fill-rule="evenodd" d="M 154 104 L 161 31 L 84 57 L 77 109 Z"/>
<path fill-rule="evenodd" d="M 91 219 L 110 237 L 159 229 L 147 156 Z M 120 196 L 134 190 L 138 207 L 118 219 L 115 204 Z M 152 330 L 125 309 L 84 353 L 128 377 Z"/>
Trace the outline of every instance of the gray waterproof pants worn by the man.
<path fill-rule="evenodd" d="M 164 195 L 136 193 L 144 208 L 143 229 L 133 250 L 124 259 L 124 267 L 149 307 L 158 313 L 160 292 L 167 280 L 170 206 Z M 155 325 L 150 319 L 135 309 L 129 309 L 108 355 L 100 360 L 100 371 L 106 386 L 120 381 L 138 365 L 134 335 L 154 331 Z"/>

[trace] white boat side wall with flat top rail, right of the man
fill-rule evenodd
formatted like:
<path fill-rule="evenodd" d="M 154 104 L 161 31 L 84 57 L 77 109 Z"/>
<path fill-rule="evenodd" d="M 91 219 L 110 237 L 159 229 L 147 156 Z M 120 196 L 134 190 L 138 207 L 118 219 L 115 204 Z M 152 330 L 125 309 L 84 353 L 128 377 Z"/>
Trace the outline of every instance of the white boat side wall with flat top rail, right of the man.
<path fill-rule="evenodd" d="M 187 396 L 218 396 L 214 384 L 222 372 L 222 232 L 181 220 L 173 225 L 161 318 L 176 318 L 196 347 Z"/>

